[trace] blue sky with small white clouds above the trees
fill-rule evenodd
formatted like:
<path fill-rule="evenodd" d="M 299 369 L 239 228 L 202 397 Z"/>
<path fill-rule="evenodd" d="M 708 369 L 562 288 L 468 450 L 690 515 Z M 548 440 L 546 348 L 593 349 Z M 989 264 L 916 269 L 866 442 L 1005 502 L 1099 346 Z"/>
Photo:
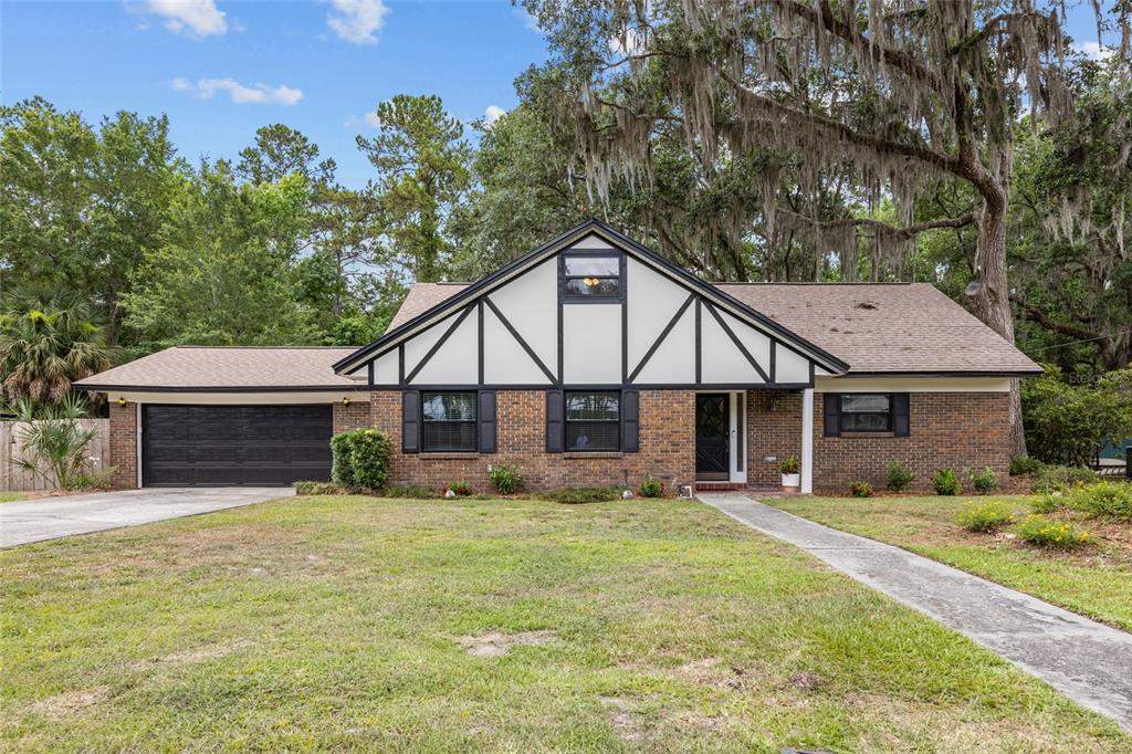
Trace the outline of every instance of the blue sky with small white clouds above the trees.
<path fill-rule="evenodd" d="M 91 121 L 165 112 L 190 161 L 234 157 L 256 128 L 283 122 L 355 187 L 370 170 L 354 136 L 375 131 L 378 102 L 438 94 L 471 121 L 513 108 L 515 77 L 547 54 L 505 0 L 0 2 L 3 102 L 42 95 Z M 1087 2 L 1070 5 L 1066 27 L 1096 49 Z"/>

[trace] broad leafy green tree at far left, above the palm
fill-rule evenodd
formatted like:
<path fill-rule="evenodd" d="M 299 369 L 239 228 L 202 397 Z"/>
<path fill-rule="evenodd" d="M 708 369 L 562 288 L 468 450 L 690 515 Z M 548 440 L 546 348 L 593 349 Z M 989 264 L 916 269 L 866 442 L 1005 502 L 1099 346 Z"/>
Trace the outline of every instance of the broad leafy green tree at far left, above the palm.
<path fill-rule="evenodd" d="M 35 98 L 0 108 L 0 288 L 71 291 L 118 344 L 119 302 L 187 171 L 168 119 L 119 112 L 95 130 Z"/>

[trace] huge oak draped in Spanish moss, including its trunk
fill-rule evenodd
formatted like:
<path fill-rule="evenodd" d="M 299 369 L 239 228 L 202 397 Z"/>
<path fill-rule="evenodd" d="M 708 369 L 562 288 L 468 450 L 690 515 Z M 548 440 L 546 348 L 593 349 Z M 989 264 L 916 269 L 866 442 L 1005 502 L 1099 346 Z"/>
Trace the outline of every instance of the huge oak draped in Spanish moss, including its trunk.
<path fill-rule="evenodd" d="M 891 198 L 901 225 L 835 222 L 869 226 L 874 245 L 894 256 L 908 249 L 911 231 L 923 230 L 912 223 L 915 198 L 943 178 L 960 179 L 980 203 L 966 293 L 974 312 L 1013 341 L 1006 284 L 1013 121 L 1027 108 L 1031 118 L 1055 121 L 1071 109 L 1061 66 L 1069 41 L 1056 10 L 1029 0 L 526 6 L 549 29 L 555 57 L 543 75 L 564 84 L 548 117 L 599 194 L 615 179 L 648 186 L 650 136 L 667 129 L 683 136 L 709 173 L 724 157 L 765 161 L 757 172 L 769 243 L 777 240 L 783 181 L 813 202 L 844 174 L 867 206 Z M 743 208 L 735 211 L 752 217 Z M 804 225 L 789 222 L 790 214 L 782 219 L 796 231 Z M 827 222 L 804 220 L 818 234 Z M 732 217 L 720 233 L 747 224 Z M 856 250 L 856 235 L 849 239 L 838 234 L 843 260 Z M 824 252 L 824 241 L 814 246 Z M 1017 388 L 1011 419 L 1022 453 Z"/>

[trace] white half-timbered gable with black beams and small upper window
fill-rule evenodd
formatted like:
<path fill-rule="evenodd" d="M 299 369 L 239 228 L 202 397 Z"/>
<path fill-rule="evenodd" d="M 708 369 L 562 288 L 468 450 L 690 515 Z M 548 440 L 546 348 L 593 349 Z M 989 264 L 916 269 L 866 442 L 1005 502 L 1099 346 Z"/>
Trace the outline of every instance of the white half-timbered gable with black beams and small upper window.
<path fill-rule="evenodd" d="M 335 365 L 376 388 L 786 387 L 846 365 L 590 221 Z"/>

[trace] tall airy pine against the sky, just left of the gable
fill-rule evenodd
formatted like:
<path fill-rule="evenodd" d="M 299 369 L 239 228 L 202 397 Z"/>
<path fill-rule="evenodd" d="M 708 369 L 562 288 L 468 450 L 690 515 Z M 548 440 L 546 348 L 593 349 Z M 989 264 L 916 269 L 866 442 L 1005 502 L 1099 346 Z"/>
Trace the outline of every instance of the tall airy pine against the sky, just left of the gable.
<path fill-rule="evenodd" d="M 389 251 L 419 282 L 444 277 L 448 221 L 468 188 L 464 127 L 440 97 L 398 94 L 377 106 L 380 132 L 358 146 L 377 169 L 370 190 L 385 214 Z"/>

